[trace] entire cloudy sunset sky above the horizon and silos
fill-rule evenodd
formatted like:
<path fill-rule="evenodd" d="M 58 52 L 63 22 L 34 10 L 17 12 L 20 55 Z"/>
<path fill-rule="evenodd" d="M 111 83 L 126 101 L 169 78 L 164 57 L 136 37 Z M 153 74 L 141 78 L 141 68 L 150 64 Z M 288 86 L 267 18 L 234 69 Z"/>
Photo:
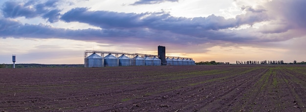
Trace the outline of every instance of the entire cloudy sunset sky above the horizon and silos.
<path fill-rule="evenodd" d="M 84 64 L 85 50 L 196 62 L 306 61 L 306 0 L 0 0 L 0 63 Z"/>

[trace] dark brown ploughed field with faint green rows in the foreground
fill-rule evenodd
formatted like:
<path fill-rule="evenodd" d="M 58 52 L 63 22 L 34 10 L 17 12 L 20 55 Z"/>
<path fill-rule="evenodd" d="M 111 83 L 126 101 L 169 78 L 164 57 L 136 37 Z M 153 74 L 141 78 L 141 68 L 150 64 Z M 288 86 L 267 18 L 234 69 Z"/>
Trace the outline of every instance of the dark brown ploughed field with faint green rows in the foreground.
<path fill-rule="evenodd" d="M 306 112 L 306 66 L 1 68 L 0 111 Z"/>

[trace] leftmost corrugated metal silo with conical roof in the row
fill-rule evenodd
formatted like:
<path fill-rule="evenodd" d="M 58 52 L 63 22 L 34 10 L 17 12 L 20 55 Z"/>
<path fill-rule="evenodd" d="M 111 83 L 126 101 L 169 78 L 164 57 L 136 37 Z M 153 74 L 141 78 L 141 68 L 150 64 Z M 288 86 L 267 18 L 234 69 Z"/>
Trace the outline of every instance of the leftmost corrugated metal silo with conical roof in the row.
<path fill-rule="evenodd" d="M 103 57 L 96 53 L 93 53 L 85 58 L 85 62 L 87 64 L 86 67 L 103 67 Z"/>

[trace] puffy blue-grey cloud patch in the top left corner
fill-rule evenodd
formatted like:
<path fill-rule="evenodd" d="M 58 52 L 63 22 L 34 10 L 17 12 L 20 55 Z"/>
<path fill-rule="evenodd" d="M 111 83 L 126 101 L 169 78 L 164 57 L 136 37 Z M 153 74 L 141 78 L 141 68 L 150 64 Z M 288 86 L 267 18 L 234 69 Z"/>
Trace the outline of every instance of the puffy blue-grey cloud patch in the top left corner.
<path fill-rule="evenodd" d="M 59 0 L 47 0 L 39 2 L 37 0 L 29 0 L 26 3 L 6 1 L 1 7 L 1 11 L 5 18 L 35 18 L 42 16 L 48 22 L 57 22 L 60 17 L 59 9 L 54 9 Z"/>

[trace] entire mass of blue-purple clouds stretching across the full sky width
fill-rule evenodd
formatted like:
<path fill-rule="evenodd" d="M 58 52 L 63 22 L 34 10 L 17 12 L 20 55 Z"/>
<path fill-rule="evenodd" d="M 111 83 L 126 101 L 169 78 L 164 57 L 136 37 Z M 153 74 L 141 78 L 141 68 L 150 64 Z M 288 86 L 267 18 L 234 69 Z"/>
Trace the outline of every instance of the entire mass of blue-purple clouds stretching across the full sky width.
<path fill-rule="evenodd" d="M 157 1 L 156 1 L 157 2 Z M 222 16 L 185 18 L 174 17 L 161 12 L 123 13 L 113 11 L 92 11 L 90 8 L 73 8 L 63 14 L 56 8 L 58 0 L 43 3 L 28 1 L 24 4 L 5 2 L 0 18 L 0 37 L 59 38 L 95 41 L 111 44 L 173 44 L 184 45 L 209 44 L 223 46 L 265 45 L 262 43 L 280 42 L 304 36 L 306 28 L 303 0 L 273 0 L 259 7 L 242 6 L 243 14 L 225 19 Z M 7 7 L 12 6 L 12 7 Z M 45 7 L 55 8 L 45 8 Z M 283 7 L 282 10 L 279 7 Z M 293 8 L 296 7 L 296 8 Z M 37 10 L 41 9 L 41 10 Z M 288 12 L 286 12 L 288 10 Z M 290 13 L 289 13 L 290 12 Z M 23 24 L 12 18 L 42 17 L 49 22 L 82 22 L 101 29 L 65 29 L 46 24 Z M 253 25 L 263 23 L 258 28 Z M 248 28 L 240 28 L 242 25 Z M 234 28 L 234 29 L 232 29 Z M 223 45 L 222 45 L 223 44 Z M 192 48 L 192 47 L 190 47 Z M 204 48 L 205 50 L 205 48 Z M 203 50 L 201 50 L 203 51 Z"/>

